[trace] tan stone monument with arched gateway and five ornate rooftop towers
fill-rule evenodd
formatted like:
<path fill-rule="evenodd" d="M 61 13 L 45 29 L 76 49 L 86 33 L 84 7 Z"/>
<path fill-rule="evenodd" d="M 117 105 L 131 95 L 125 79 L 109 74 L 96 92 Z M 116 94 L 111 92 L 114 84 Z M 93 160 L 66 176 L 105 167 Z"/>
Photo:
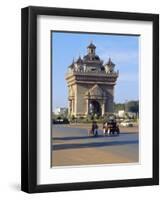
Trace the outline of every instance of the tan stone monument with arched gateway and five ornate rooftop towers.
<path fill-rule="evenodd" d="M 68 67 L 69 116 L 103 116 L 113 113 L 114 87 L 118 78 L 111 58 L 105 64 L 96 55 L 96 46 L 91 42 L 87 55 L 72 62 Z"/>

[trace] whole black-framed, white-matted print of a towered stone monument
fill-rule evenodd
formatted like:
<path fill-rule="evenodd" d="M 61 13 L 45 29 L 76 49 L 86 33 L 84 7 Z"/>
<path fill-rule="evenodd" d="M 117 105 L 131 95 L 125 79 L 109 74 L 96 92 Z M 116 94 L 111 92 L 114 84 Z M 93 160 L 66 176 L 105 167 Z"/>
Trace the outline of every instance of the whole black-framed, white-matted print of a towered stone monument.
<path fill-rule="evenodd" d="M 159 184 L 159 16 L 22 9 L 22 190 Z"/>

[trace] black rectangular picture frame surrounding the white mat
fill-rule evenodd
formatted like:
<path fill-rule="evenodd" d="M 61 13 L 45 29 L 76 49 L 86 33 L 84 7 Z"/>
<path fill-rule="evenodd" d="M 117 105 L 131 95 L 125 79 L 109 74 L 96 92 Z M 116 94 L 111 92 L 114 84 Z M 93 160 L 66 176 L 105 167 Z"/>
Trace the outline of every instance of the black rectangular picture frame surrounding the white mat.
<path fill-rule="evenodd" d="M 153 177 L 63 184 L 37 184 L 37 16 L 55 15 L 153 23 Z M 30 6 L 21 12 L 21 190 L 28 193 L 159 184 L 159 15 Z"/>

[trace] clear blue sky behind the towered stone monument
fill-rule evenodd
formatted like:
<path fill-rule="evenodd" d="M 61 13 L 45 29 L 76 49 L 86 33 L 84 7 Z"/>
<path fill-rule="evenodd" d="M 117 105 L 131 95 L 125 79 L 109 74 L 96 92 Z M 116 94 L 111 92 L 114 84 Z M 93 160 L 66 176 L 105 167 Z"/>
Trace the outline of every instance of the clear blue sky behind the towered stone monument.
<path fill-rule="evenodd" d="M 67 107 L 65 74 L 73 58 L 87 54 L 90 42 L 106 62 L 109 57 L 119 70 L 114 101 L 138 100 L 139 36 L 103 35 L 69 32 L 52 33 L 52 107 Z"/>

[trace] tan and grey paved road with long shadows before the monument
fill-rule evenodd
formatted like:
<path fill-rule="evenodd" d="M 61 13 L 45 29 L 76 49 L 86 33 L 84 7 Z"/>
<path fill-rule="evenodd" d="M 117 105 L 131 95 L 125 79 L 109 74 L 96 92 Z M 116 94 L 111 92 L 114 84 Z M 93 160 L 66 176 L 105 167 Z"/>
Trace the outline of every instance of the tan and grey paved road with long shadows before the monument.
<path fill-rule="evenodd" d="M 99 127 L 98 137 L 89 137 L 85 125 L 52 125 L 52 166 L 138 162 L 138 127 L 120 131 L 119 136 L 104 137 Z"/>

